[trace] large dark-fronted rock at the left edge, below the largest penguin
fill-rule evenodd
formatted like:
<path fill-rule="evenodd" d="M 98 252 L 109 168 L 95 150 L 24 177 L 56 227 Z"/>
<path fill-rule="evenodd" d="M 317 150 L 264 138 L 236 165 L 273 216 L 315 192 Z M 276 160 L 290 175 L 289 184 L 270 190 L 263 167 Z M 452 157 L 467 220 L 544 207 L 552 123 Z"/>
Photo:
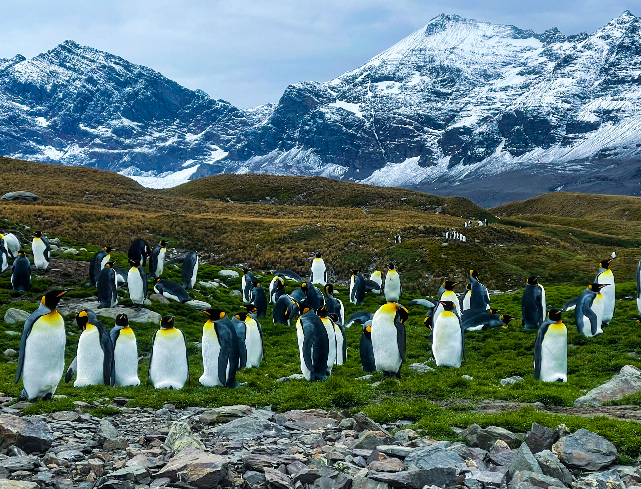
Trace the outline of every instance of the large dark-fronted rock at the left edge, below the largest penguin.
<path fill-rule="evenodd" d="M 0 415 L 0 450 L 11 445 L 27 453 L 46 452 L 53 442 L 53 430 L 39 416 Z"/>

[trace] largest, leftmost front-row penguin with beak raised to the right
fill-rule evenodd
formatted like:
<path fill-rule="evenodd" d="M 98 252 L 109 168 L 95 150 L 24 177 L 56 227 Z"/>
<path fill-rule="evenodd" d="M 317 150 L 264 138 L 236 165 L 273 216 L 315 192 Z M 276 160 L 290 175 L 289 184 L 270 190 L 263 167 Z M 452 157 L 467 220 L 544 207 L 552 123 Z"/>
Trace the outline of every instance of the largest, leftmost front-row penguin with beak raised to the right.
<path fill-rule="evenodd" d="M 15 384 L 22 377 L 21 400 L 51 399 L 65 368 L 65 321 L 56 311 L 66 290 L 47 292 L 24 322 Z"/>

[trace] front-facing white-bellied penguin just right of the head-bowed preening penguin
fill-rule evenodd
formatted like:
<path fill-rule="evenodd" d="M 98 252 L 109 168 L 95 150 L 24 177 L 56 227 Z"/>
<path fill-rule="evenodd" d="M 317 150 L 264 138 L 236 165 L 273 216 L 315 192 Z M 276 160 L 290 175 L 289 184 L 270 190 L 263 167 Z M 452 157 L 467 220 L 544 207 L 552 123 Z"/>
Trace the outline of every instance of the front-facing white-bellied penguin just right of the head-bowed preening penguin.
<path fill-rule="evenodd" d="M 451 300 L 438 301 L 443 311 L 434 321 L 432 356 L 437 366 L 460 368 L 465 359 L 465 330 Z"/>

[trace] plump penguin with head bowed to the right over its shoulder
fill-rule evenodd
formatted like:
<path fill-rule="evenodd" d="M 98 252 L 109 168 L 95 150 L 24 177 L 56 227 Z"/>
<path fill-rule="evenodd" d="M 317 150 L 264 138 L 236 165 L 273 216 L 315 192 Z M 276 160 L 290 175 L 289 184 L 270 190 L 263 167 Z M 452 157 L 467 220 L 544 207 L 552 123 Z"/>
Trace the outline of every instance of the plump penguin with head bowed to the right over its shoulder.
<path fill-rule="evenodd" d="M 383 379 L 401 378 L 401 365 L 405 361 L 407 336 L 405 321 L 408 310 L 396 302 L 381 305 L 372 318 L 372 352 L 376 370 L 383 372 Z"/>

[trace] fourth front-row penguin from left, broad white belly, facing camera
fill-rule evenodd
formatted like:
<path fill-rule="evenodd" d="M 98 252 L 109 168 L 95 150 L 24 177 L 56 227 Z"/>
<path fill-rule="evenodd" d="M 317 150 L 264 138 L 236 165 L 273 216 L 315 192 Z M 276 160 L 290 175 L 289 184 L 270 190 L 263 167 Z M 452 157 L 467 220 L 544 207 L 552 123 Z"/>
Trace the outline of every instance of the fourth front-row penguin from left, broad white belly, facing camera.
<path fill-rule="evenodd" d="M 151 338 L 147 386 L 151 381 L 156 389 L 182 389 L 188 379 L 187 337 L 174 327 L 174 316 L 163 316 Z"/>

